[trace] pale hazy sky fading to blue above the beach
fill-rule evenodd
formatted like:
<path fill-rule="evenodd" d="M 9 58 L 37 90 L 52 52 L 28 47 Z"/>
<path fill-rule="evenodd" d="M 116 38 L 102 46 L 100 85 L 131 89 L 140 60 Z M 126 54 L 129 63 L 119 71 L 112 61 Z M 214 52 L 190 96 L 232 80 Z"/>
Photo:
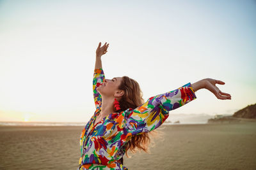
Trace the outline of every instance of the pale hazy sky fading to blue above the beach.
<path fill-rule="evenodd" d="M 256 103 L 256 1 L 0 1 L 0 121 L 87 122 L 99 42 L 106 78 L 145 101 L 204 78 L 171 114 L 233 114 Z"/>

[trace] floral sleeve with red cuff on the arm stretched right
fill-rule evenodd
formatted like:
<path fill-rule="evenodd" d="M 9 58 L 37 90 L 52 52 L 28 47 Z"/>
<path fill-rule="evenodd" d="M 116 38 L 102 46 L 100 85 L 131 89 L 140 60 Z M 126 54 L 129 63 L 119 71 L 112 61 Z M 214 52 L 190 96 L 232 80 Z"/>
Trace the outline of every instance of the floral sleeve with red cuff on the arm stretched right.
<path fill-rule="evenodd" d="M 126 114 L 125 130 L 129 135 L 150 132 L 163 124 L 169 111 L 196 99 L 191 83 L 176 90 L 150 97 L 146 103 Z"/>

